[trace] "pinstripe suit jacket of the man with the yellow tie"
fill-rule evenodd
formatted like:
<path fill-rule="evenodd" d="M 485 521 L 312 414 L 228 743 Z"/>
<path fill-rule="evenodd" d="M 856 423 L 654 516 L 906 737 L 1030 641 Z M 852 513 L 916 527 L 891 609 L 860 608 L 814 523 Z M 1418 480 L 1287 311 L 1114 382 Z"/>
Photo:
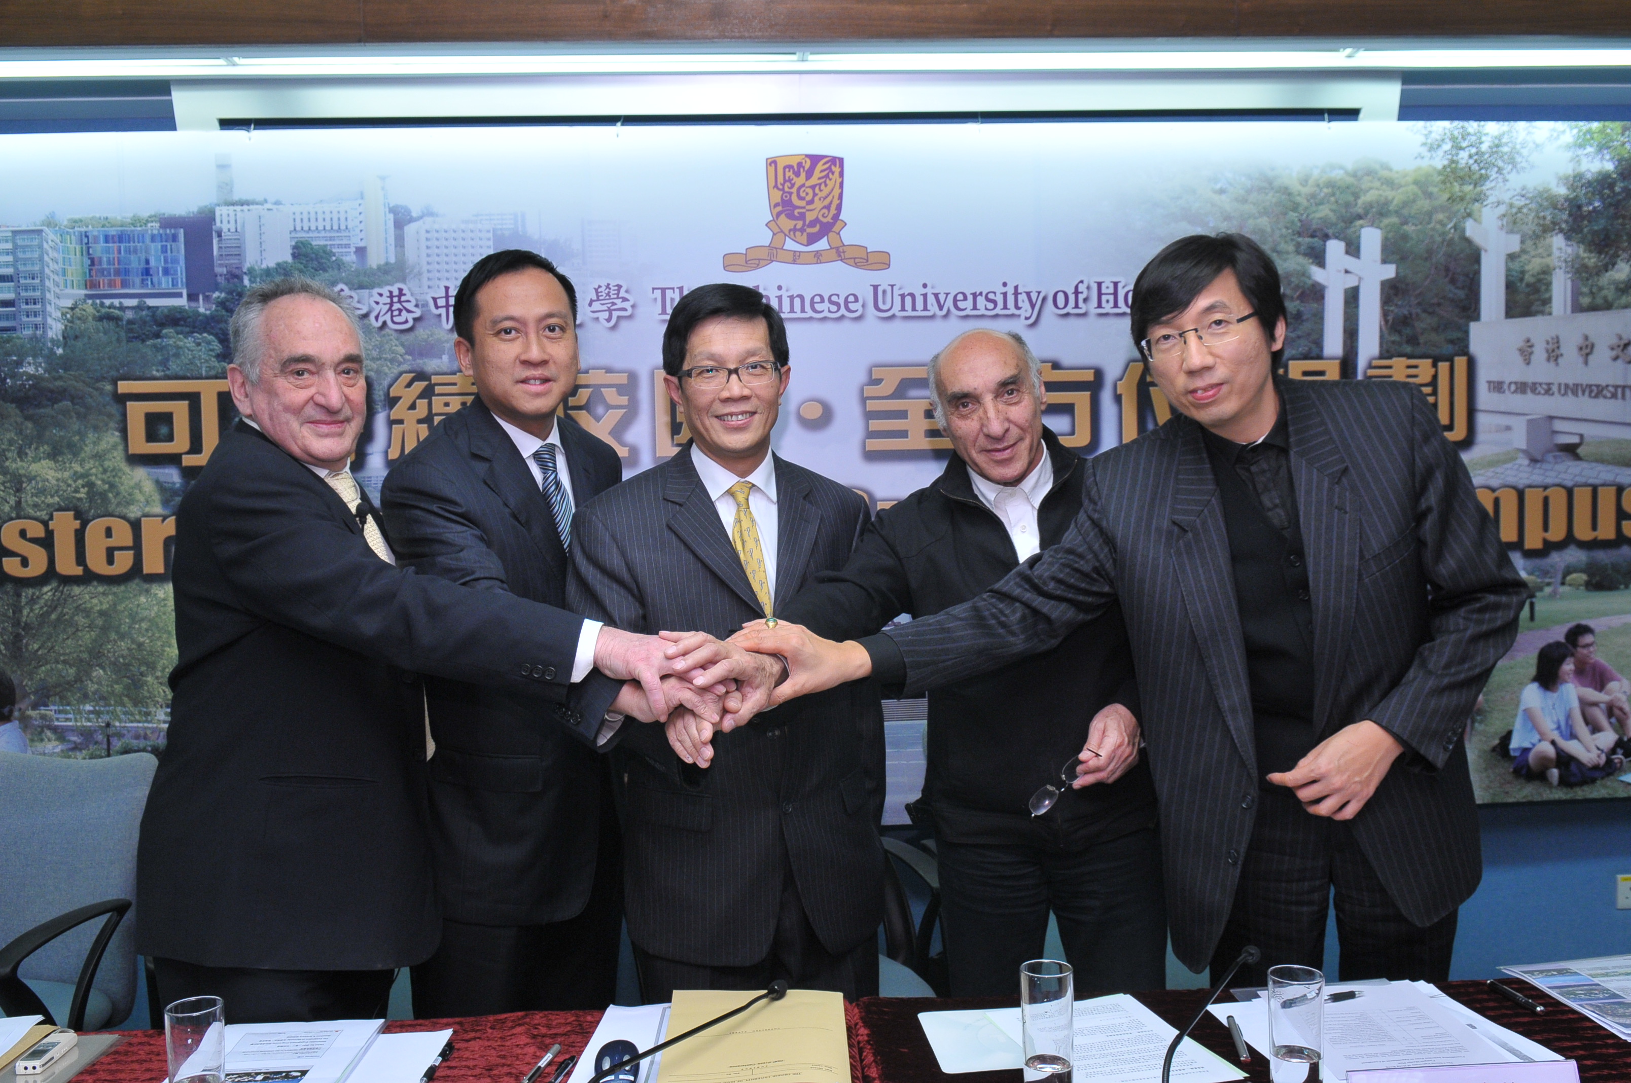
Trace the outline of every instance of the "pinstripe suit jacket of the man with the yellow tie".
<path fill-rule="evenodd" d="M 729 636 L 763 617 L 692 449 L 579 507 L 568 605 L 639 633 Z M 838 571 L 866 525 L 853 491 L 776 458 L 776 605 Z M 713 739 L 706 770 L 661 726 L 625 723 L 630 938 L 664 959 L 749 966 L 771 948 L 785 869 L 822 944 L 882 920 L 882 713 L 873 682 L 788 703 Z"/>

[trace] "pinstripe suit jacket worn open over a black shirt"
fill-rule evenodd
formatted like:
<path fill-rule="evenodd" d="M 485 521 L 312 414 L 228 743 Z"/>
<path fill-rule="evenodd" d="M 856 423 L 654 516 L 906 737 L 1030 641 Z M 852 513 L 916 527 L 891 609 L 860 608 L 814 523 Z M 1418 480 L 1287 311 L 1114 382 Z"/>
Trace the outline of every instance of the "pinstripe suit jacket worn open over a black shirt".
<path fill-rule="evenodd" d="M 1308 550 L 1315 726 L 1373 719 L 1406 755 L 1354 819 L 1404 915 L 1478 886 L 1461 727 L 1512 646 L 1523 584 L 1432 408 L 1393 382 L 1277 380 Z M 1202 969 L 1228 918 L 1258 801 L 1228 537 L 1200 426 L 1174 414 L 1088 460 L 1065 538 L 985 595 L 887 634 L 930 688 L 1047 649 L 1119 597 L 1155 773 L 1173 949 Z M 879 677 L 891 652 L 876 651 Z"/>

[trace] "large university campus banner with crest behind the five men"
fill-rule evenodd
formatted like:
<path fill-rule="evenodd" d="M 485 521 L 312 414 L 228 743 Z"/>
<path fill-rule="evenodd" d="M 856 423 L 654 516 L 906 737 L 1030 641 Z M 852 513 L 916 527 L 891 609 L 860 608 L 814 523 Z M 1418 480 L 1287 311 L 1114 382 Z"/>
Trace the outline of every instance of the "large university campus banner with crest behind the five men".
<path fill-rule="evenodd" d="M 882 509 L 944 466 L 925 370 L 961 331 L 1024 336 L 1044 418 L 1081 455 L 1165 422 L 1132 284 L 1168 241 L 1220 230 L 1279 264 L 1288 378 L 1425 396 L 1533 590 L 1465 719 L 1479 801 L 1631 796 L 1607 762 L 1525 780 L 1510 754 L 1520 705 L 1553 703 L 1574 670 L 1584 724 L 1631 737 L 1631 126 L 1610 122 L 3 135 L 16 739 L 161 754 L 175 511 L 235 421 L 227 326 L 256 282 L 303 274 L 352 305 L 370 409 L 352 468 L 375 496 L 475 396 L 452 302 L 481 256 L 527 248 L 572 279 L 582 369 L 563 409 L 625 478 L 688 439 L 661 374 L 667 315 L 698 285 L 752 285 L 788 326 L 776 453 Z M 897 822 L 923 703 L 886 718 Z"/>

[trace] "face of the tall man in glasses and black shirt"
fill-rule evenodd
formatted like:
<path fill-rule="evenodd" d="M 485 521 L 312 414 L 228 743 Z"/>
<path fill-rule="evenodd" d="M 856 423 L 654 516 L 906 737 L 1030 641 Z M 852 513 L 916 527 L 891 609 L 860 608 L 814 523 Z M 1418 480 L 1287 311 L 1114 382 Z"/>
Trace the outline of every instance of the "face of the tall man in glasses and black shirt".
<path fill-rule="evenodd" d="M 1279 414 L 1271 369 L 1274 351 L 1285 344 L 1285 320 L 1267 329 L 1259 320 L 1217 323 L 1238 320 L 1251 310 L 1240 279 L 1225 271 L 1187 308 L 1151 323 L 1145 331 L 1150 341 L 1209 326 L 1238 334 L 1218 346 L 1202 346 L 1197 336 L 1186 334 L 1178 354 L 1156 354 L 1150 360 L 1150 375 L 1174 408 L 1236 444 L 1266 435 Z"/>

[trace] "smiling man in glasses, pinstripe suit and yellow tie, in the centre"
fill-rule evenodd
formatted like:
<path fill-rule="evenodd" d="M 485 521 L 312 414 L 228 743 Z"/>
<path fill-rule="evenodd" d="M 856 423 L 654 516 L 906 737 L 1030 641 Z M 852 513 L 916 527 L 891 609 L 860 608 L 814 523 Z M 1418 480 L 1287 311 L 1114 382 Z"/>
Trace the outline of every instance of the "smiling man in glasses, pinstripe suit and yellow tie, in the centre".
<path fill-rule="evenodd" d="M 680 298 L 662 367 L 692 440 L 579 509 L 568 602 L 634 631 L 726 636 L 842 568 L 866 504 L 771 455 L 788 339 L 757 290 L 719 284 Z M 706 770 L 654 726 L 628 732 L 618 757 L 628 931 L 648 1001 L 775 979 L 877 992 L 876 688 L 832 688 L 716 737 Z"/>

